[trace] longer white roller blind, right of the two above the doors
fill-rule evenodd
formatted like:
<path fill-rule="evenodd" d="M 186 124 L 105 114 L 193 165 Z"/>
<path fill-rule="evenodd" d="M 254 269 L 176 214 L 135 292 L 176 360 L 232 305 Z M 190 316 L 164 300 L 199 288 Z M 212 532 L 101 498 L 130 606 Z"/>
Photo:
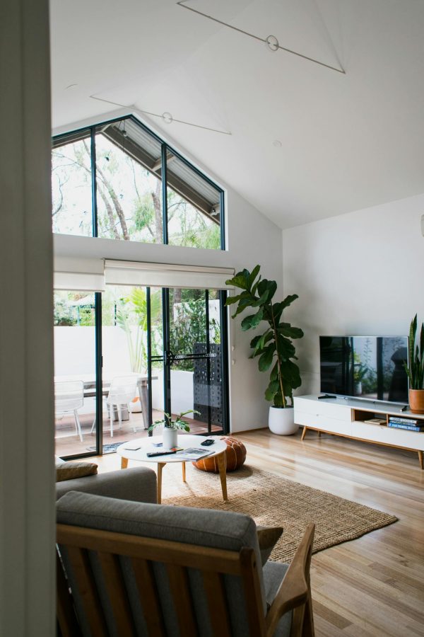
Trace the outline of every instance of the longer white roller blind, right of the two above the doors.
<path fill-rule="evenodd" d="M 110 285 L 229 289 L 225 281 L 234 272 L 233 268 L 105 260 L 105 281 Z"/>

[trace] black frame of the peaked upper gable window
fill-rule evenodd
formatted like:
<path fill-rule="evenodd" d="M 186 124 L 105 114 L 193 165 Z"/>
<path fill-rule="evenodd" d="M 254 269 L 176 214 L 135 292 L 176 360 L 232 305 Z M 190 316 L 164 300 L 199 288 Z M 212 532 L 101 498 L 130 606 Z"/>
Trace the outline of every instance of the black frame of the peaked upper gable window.
<path fill-rule="evenodd" d="M 182 154 L 180 154 L 175 148 L 167 144 L 158 134 L 150 130 L 143 122 L 138 120 L 134 115 L 124 115 L 124 117 L 115 117 L 112 120 L 106 120 L 105 122 L 97 122 L 90 126 L 84 126 L 78 128 L 76 130 L 71 130 L 66 133 L 61 133 L 59 135 L 54 135 L 53 137 L 53 147 L 60 147 L 61 140 L 65 142 L 65 140 L 69 140 L 69 143 L 78 139 L 78 135 L 86 133 L 87 139 L 90 139 L 90 168 L 91 168 L 91 193 L 92 193 L 92 235 L 93 237 L 98 237 L 98 200 L 97 200 L 97 174 L 96 174 L 96 144 L 95 144 L 95 135 L 98 132 L 98 128 L 102 126 L 107 126 L 110 124 L 114 124 L 116 122 L 123 122 L 125 120 L 131 120 L 137 126 L 141 127 L 141 129 L 149 134 L 156 142 L 161 145 L 161 171 L 160 178 L 162 179 L 162 218 L 163 218 L 163 243 L 158 245 L 169 245 L 168 241 L 168 227 L 167 227 L 167 156 L 168 154 L 172 154 L 177 159 L 182 161 L 187 168 L 194 171 L 196 175 L 198 175 L 201 179 L 205 180 L 208 185 L 212 188 L 215 188 L 219 194 L 219 205 L 220 205 L 220 250 L 225 251 L 225 196 L 223 188 L 220 188 L 218 184 L 216 184 L 211 178 L 209 178 L 205 173 L 196 168 L 190 161 L 188 161 Z M 172 188 L 172 185 L 170 185 Z M 204 212 L 201 214 L 204 214 Z M 62 234 L 62 233 L 61 233 Z M 67 235 L 71 236 L 71 235 Z M 146 243 L 144 241 L 132 241 L 131 243 Z M 149 245 L 151 245 L 149 243 Z M 175 246 L 175 247 L 186 247 L 186 246 Z M 190 246 L 192 247 L 192 246 Z M 213 249 L 213 248 L 194 248 L 194 249 Z"/>

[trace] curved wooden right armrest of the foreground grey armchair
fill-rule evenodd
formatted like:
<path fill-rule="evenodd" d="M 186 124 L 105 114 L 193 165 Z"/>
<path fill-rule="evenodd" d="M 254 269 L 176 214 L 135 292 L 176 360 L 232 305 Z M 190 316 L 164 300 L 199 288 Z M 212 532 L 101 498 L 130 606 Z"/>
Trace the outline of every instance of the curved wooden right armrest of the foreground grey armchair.
<path fill-rule="evenodd" d="M 309 562 L 314 539 L 314 524 L 309 524 L 305 535 L 298 546 L 292 563 L 281 582 L 271 607 L 266 614 L 266 634 L 271 637 L 276 630 L 278 621 L 286 612 L 307 602 L 310 595 Z M 307 579 L 308 578 L 308 579 Z"/>

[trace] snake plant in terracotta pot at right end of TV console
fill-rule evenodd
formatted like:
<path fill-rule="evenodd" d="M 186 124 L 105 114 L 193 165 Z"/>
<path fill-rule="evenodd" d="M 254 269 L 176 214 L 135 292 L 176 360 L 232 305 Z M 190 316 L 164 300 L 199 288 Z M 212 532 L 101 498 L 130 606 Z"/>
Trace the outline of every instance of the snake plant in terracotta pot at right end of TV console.
<path fill-rule="evenodd" d="M 409 379 L 409 408 L 412 413 L 424 413 L 424 323 L 418 340 L 417 315 L 411 321 L 409 360 L 404 366 Z"/>

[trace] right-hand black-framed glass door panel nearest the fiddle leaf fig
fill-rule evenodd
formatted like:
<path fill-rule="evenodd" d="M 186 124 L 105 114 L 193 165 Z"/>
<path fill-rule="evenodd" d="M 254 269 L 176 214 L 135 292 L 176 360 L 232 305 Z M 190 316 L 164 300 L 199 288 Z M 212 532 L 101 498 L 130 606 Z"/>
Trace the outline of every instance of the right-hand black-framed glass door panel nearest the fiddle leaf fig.
<path fill-rule="evenodd" d="M 194 434 L 227 432 L 225 292 L 164 288 L 162 299 L 163 351 L 151 362 L 163 369 L 163 411 L 192 411 Z"/>

